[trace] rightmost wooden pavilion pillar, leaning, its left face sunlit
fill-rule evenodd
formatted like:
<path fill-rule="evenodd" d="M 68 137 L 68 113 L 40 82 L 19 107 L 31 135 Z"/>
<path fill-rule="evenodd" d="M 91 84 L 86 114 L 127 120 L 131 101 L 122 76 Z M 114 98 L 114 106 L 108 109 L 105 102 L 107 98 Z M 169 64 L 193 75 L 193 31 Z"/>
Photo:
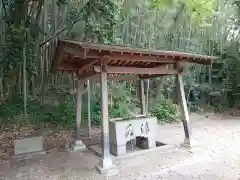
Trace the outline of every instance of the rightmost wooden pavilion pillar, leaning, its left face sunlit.
<path fill-rule="evenodd" d="M 178 92 L 178 99 L 179 99 L 179 105 L 182 111 L 182 116 L 183 116 L 183 128 L 184 128 L 184 143 L 182 144 L 185 147 L 190 147 L 190 135 L 191 135 L 191 127 L 190 127 L 190 118 L 189 118 L 189 113 L 188 113 L 188 107 L 187 107 L 187 101 L 185 97 L 185 92 L 184 92 L 184 84 L 183 84 L 183 78 L 181 74 L 178 74 L 176 76 L 176 89 Z"/>

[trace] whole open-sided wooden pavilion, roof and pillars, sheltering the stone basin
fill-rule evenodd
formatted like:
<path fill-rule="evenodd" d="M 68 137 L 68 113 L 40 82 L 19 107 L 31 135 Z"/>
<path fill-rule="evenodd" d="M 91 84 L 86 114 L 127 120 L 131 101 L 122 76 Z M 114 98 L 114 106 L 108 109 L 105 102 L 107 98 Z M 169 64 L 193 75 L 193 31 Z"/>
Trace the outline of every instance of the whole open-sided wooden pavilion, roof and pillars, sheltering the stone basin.
<path fill-rule="evenodd" d="M 101 173 L 114 169 L 109 148 L 108 90 L 107 80 L 112 74 L 136 75 L 143 80 L 159 76 L 176 76 L 179 104 L 183 113 L 185 138 L 183 144 L 191 146 L 190 123 L 185 99 L 182 73 L 186 63 L 210 65 L 215 57 L 182 52 L 133 49 L 112 45 L 90 44 L 77 41 L 59 40 L 52 63 L 52 72 L 69 72 L 78 79 L 77 90 L 77 139 L 76 145 L 85 147 L 81 141 L 81 105 L 84 81 L 100 78 L 101 82 L 101 130 L 102 158 L 96 166 Z M 117 77 L 117 76 L 116 76 Z M 141 81 L 141 113 L 144 115 L 143 81 Z"/>

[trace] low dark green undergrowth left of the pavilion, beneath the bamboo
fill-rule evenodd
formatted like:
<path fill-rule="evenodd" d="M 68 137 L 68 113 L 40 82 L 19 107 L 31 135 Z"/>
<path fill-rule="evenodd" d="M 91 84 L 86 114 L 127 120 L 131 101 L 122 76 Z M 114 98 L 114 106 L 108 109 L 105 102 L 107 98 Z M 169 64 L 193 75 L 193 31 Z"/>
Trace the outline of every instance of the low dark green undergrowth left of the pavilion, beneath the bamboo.
<path fill-rule="evenodd" d="M 23 115 L 23 103 L 21 97 L 14 97 L 0 105 L 1 125 L 17 124 L 36 124 L 55 127 L 70 128 L 75 121 L 75 100 L 67 96 L 64 101 L 57 106 L 41 106 L 37 99 L 28 100 L 27 118 Z"/>

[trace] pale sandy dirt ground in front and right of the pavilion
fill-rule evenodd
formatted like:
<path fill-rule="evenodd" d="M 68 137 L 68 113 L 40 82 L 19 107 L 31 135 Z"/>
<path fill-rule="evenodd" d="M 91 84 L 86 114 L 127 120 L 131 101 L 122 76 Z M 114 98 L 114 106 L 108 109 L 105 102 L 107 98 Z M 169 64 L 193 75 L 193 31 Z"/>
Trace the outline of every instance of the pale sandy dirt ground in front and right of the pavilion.
<path fill-rule="evenodd" d="M 240 117 L 192 114 L 192 151 L 179 148 L 180 124 L 159 125 L 157 140 L 167 146 L 137 156 L 115 159 L 119 174 L 95 171 L 100 159 L 90 150 L 54 152 L 0 166 L 1 180 L 238 180 L 240 179 Z"/>

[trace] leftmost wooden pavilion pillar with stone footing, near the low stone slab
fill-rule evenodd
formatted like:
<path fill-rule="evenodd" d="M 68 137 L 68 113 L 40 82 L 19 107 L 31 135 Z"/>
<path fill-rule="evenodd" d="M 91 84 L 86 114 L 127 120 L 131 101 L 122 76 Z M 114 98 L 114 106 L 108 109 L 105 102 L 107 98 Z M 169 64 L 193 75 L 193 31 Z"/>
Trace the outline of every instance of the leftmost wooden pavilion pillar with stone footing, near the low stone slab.
<path fill-rule="evenodd" d="M 83 144 L 81 139 L 81 123 L 82 123 L 82 94 L 84 90 L 84 81 L 78 80 L 77 82 L 77 99 L 76 99 L 76 144 L 74 151 L 85 149 L 86 146 Z"/>

